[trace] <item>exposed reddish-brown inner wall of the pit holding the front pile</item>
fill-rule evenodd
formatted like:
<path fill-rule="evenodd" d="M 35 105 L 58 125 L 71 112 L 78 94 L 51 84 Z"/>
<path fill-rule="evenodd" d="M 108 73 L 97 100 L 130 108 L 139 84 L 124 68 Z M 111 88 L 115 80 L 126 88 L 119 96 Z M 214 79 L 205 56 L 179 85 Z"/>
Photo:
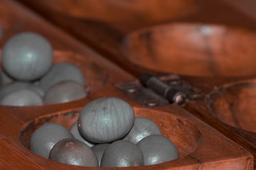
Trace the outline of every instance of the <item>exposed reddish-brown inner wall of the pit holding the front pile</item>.
<path fill-rule="evenodd" d="M 158 124 L 162 135 L 168 137 L 175 143 L 180 157 L 193 153 L 199 146 L 201 133 L 191 121 L 179 118 L 170 113 L 151 109 L 135 108 L 134 110 L 136 116 L 152 119 Z M 70 128 L 78 117 L 79 111 L 72 111 L 68 113 L 50 114 L 34 119 L 20 132 L 20 142 L 24 147 L 28 148 L 30 136 L 42 124 L 55 122 L 62 124 L 66 128 Z"/>

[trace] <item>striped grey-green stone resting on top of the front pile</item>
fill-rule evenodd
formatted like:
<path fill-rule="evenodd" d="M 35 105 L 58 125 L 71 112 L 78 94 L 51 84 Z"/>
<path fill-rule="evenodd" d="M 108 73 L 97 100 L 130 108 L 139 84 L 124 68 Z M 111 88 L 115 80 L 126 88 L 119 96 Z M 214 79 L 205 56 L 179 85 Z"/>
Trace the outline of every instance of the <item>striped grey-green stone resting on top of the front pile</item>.
<path fill-rule="evenodd" d="M 124 137 L 134 123 L 131 105 L 114 97 L 87 103 L 79 115 L 80 134 L 90 142 L 109 143 Z"/>

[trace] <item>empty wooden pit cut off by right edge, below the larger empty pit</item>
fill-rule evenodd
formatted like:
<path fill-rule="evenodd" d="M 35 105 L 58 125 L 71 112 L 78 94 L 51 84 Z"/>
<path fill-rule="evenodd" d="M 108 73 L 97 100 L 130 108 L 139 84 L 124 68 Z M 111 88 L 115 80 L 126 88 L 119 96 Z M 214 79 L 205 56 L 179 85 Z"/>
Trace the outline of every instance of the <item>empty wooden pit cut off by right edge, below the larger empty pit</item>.
<path fill-rule="evenodd" d="M 221 87 L 209 96 L 213 116 L 237 128 L 256 132 L 256 82 Z"/>

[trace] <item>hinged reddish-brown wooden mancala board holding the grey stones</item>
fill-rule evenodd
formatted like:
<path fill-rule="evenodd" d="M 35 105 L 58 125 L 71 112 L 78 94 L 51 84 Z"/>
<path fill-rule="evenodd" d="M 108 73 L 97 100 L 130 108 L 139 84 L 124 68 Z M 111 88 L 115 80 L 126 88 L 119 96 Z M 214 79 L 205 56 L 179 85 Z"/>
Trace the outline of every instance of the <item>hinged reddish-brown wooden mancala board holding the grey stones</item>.
<path fill-rule="evenodd" d="M 154 120 L 180 153 L 180 158 L 174 161 L 115 168 L 117 170 L 254 169 L 256 93 L 252 78 L 256 73 L 253 67 L 256 51 L 251 47 L 256 44 L 255 33 L 224 25 L 163 24 L 179 21 L 178 18 L 193 21 L 190 16 L 198 17 L 200 12 L 209 11 L 207 15 L 213 15 L 206 10 L 207 4 L 198 5 L 198 0 L 180 0 L 172 4 L 149 0 L 146 5 L 142 1 L 132 4 L 118 0 L 104 0 L 102 4 L 94 0 L 77 0 L 77 4 L 70 0 L 20 1 L 55 22 L 66 33 L 20 2 L 1 0 L 3 38 L 0 45 L 20 32 L 42 34 L 54 47 L 55 63 L 70 62 L 82 70 L 89 96 L 63 104 L 0 106 L 1 170 L 101 169 L 47 160 L 29 151 L 28 145 L 31 134 L 40 125 L 57 122 L 69 128 L 87 102 L 105 96 L 121 98 L 132 105 L 136 116 Z M 90 5 L 88 13 L 80 9 L 86 5 Z M 170 5 L 173 6 L 171 13 L 168 8 L 161 11 Z M 220 8 L 222 14 L 230 9 L 224 4 L 220 4 Z M 248 27 L 250 21 L 252 27 L 256 25 L 234 9 L 230 11 L 238 16 L 242 26 Z M 148 18 L 150 14 L 154 14 L 152 19 Z M 234 19 L 224 16 L 222 24 L 225 21 L 234 23 Z M 151 26 L 153 24 L 157 25 Z M 246 45 L 245 42 L 251 43 Z M 142 82 L 147 87 L 139 83 L 138 78 L 144 71 L 160 75 L 155 86 L 147 81 Z M 223 76 L 230 78 L 220 78 Z M 186 99 L 179 105 L 169 103 L 156 88 L 163 83 L 184 93 Z"/>

